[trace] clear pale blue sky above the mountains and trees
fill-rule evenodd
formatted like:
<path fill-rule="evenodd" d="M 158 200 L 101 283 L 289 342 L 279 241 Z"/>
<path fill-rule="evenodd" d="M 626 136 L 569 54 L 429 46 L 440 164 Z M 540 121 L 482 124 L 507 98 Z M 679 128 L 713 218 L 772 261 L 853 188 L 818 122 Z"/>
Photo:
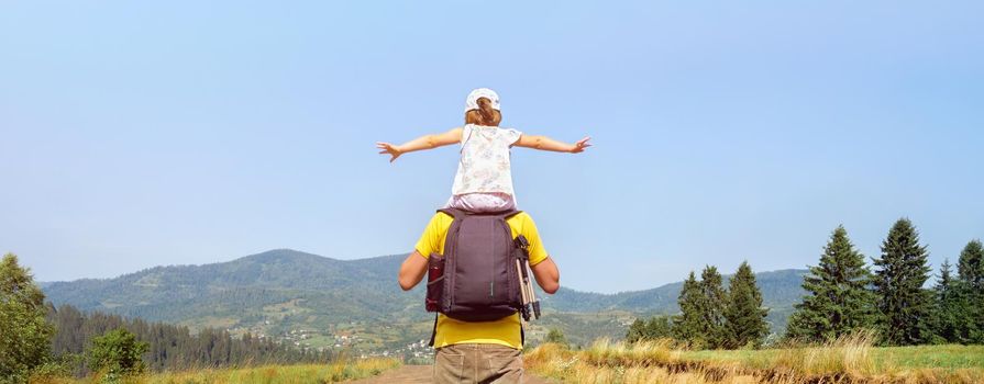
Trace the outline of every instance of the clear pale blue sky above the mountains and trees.
<path fill-rule="evenodd" d="M 815 264 L 843 224 L 913 219 L 936 268 L 984 237 L 984 4 L 4 2 L 0 251 L 42 281 L 272 248 L 409 251 L 456 151 L 377 140 L 504 126 L 562 284 Z M 396 273 L 396 271 L 394 271 Z"/>

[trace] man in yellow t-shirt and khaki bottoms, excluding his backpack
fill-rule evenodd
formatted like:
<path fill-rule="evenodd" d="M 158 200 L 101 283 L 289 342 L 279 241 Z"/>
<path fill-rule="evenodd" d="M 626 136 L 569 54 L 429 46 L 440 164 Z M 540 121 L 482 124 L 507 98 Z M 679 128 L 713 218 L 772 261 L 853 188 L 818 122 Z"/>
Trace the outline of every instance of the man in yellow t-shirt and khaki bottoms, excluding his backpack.
<path fill-rule="evenodd" d="M 400 267 L 403 291 L 413 289 L 427 273 L 431 253 L 442 253 L 451 215 L 436 213 L 417 241 L 413 252 Z M 533 218 L 522 212 L 506 219 L 512 238 L 523 235 L 530 244 L 530 267 L 537 283 L 553 294 L 560 287 L 560 272 L 543 248 Z M 522 339 L 519 314 L 499 320 L 469 323 L 438 315 L 434 336 L 434 382 L 436 383 L 521 383 Z"/>

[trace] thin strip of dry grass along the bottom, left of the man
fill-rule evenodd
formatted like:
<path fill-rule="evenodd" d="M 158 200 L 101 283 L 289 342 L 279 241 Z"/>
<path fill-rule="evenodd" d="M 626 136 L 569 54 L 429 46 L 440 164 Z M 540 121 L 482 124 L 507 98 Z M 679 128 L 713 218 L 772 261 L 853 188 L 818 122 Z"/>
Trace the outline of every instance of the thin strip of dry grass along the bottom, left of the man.
<path fill-rule="evenodd" d="M 396 359 L 362 359 L 332 364 L 267 365 L 243 369 L 164 372 L 123 377 L 132 384 L 309 384 L 336 383 L 378 375 L 400 366 Z M 35 377 L 34 384 L 81 384 L 107 382 L 104 375 L 87 379 Z"/>

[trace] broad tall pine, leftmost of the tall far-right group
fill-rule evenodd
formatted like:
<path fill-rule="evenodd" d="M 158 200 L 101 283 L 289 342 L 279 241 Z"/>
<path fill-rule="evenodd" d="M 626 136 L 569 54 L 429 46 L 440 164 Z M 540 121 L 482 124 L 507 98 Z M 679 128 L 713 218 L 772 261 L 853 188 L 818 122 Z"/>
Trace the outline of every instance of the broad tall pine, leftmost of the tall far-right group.
<path fill-rule="evenodd" d="M 848 231 L 838 226 L 820 255 L 820 263 L 803 278 L 807 296 L 796 305 L 786 337 L 812 342 L 874 326 L 874 295 L 864 256 L 854 249 Z"/>

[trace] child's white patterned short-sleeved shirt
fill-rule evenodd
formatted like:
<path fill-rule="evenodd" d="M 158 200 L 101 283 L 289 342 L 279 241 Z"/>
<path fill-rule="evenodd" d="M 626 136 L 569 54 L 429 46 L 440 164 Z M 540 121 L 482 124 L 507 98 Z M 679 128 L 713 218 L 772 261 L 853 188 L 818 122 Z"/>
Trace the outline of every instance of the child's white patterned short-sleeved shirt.
<path fill-rule="evenodd" d="M 461 160 L 451 188 L 452 196 L 468 193 L 515 196 L 509 148 L 521 135 L 511 128 L 465 125 L 462 128 Z"/>

